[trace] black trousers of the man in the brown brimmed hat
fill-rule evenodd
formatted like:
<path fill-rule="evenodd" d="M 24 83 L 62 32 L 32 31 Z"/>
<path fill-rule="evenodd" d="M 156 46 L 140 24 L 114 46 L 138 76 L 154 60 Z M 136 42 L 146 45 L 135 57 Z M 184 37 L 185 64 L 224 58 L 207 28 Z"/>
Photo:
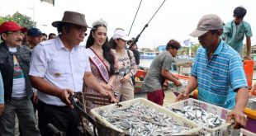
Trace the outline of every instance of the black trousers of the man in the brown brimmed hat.
<path fill-rule="evenodd" d="M 47 124 L 53 124 L 55 128 L 64 132 L 65 135 L 79 135 L 79 112 L 77 108 L 69 106 L 52 106 L 38 101 L 38 127 L 42 136 L 50 135 Z"/>

